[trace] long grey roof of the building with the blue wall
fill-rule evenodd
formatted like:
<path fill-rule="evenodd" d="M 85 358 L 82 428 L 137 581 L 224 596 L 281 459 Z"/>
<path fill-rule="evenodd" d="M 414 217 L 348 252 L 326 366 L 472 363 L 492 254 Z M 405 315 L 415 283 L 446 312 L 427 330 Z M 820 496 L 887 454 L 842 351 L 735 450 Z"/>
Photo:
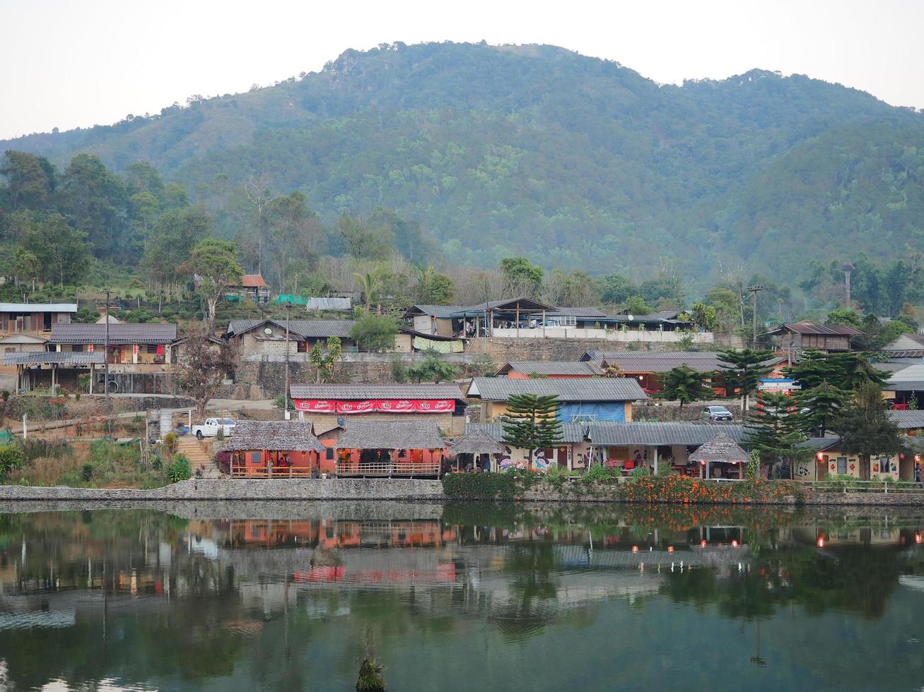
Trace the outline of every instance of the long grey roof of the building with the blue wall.
<path fill-rule="evenodd" d="M 561 401 L 635 401 L 647 395 L 632 377 L 585 377 L 563 379 L 508 379 L 475 377 L 468 396 L 505 401 L 512 394 L 556 394 Z"/>

